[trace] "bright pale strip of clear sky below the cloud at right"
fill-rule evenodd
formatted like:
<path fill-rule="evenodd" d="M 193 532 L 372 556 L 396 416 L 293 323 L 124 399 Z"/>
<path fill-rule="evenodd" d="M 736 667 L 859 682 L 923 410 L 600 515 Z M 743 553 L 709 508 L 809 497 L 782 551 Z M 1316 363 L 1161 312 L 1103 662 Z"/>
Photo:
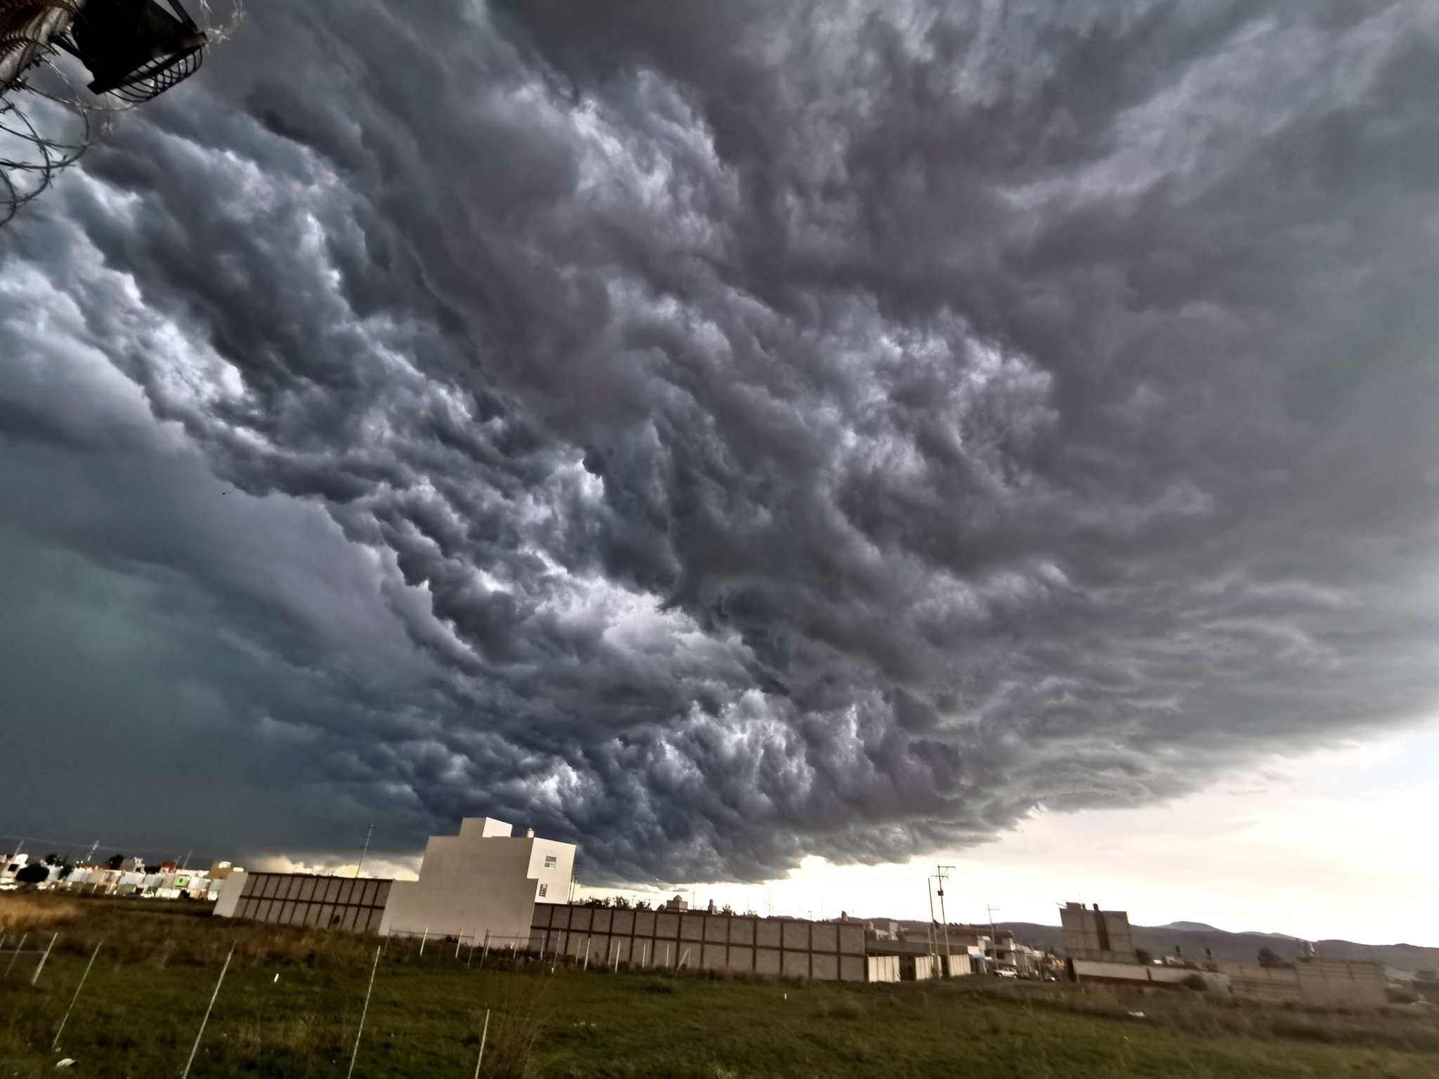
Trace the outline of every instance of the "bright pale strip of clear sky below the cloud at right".
<path fill-rule="evenodd" d="M 994 906 L 996 921 L 1058 925 L 1056 908 L 1082 899 L 1135 925 L 1439 948 L 1436 806 L 1439 724 L 1274 758 L 1166 806 L 1038 816 L 973 850 L 904 866 L 809 859 L 787 879 L 696 895 L 760 914 L 927 918 L 925 878 L 953 865 L 951 921 L 986 922 Z"/>

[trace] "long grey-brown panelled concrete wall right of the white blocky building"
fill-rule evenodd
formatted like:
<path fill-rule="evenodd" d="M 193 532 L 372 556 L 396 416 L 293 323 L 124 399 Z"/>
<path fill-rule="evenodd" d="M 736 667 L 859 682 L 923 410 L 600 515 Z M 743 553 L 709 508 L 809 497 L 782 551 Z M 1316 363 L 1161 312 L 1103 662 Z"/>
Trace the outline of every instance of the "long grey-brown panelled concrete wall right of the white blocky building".
<path fill-rule="evenodd" d="M 591 964 L 865 981 L 863 925 L 535 903 L 528 950 Z"/>

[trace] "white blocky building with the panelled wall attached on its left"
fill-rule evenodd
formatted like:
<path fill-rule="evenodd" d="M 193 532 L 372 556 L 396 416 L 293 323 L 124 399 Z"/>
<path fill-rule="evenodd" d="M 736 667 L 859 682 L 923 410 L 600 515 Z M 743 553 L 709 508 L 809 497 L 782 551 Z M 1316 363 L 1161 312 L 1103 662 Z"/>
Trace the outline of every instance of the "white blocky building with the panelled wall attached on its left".
<path fill-rule="evenodd" d="M 427 934 L 524 947 L 535 902 L 566 902 L 574 844 L 491 817 L 460 821 L 458 836 L 432 836 L 419 880 L 353 880 L 235 869 L 214 914 L 282 925 L 360 932 Z"/>

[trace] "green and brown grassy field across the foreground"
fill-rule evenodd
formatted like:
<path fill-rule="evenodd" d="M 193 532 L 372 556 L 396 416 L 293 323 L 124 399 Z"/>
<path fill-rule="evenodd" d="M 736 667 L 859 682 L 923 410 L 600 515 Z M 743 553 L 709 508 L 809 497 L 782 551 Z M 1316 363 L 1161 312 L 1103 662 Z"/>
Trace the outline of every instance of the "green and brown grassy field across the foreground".
<path fill-rule="evenodd" d="M 377 942 L 142 901 L 0 896 L 0 1076 L 344 1076 Z M 39 985 L 26 951 L 60 939 Z M 99 944 L 60 1037 L 86 962 Z M 832 985 L 466 965 L 390 942 L 355 1076 L 1439 1076 L 1439 1020 L 967 978 Z M 1131 1016 L 1143 1011 L 1143 1016 Z"/>

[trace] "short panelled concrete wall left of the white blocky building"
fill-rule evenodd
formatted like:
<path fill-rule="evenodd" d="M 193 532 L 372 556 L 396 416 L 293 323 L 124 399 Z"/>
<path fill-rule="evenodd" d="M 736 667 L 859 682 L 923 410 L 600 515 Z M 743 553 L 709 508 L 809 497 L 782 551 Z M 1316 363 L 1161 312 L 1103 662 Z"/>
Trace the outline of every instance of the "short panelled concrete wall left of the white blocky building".
<path fill-rule="evenodd" d="M 245 873 L 242 888 L 226 888 L 227 911 L 216 903 L 216 914 L 246 918 L 271 925 L 301 925 L 318 929 L 378 932 L 389 880 L 309 873 Z"/>

